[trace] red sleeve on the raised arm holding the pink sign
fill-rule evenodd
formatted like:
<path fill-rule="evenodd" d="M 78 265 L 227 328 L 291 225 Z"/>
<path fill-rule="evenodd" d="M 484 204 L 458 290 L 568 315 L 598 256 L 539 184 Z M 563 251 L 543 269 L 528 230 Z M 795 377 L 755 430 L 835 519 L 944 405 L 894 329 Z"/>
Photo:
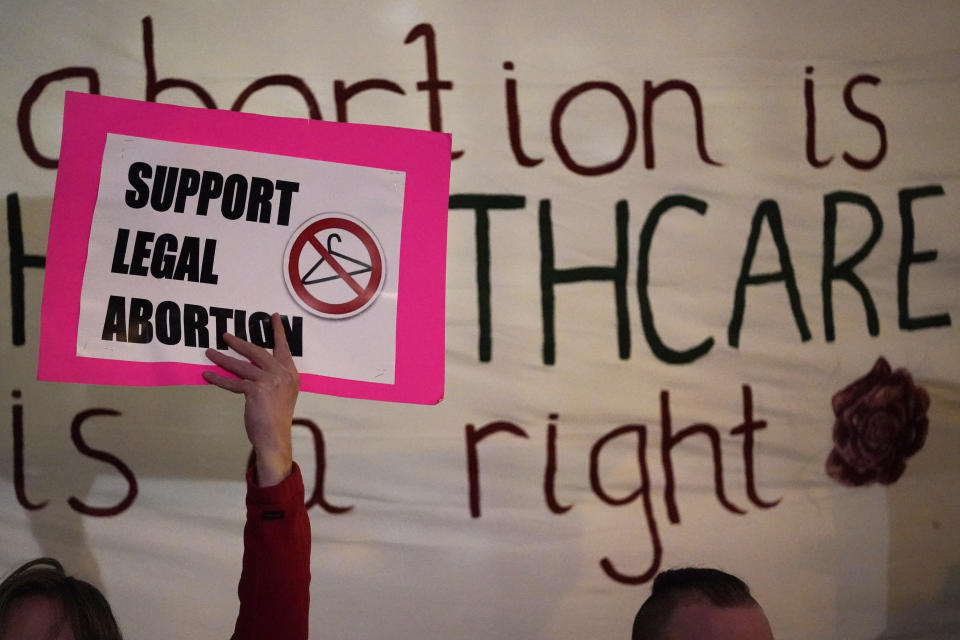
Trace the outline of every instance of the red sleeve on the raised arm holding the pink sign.
<path fill-rule="evenodd" d="M 303 477 L 258 487 L 247 473 L 240 613 L 233 640 L 307 640 L 310 617 L 310 519 Z"/>

